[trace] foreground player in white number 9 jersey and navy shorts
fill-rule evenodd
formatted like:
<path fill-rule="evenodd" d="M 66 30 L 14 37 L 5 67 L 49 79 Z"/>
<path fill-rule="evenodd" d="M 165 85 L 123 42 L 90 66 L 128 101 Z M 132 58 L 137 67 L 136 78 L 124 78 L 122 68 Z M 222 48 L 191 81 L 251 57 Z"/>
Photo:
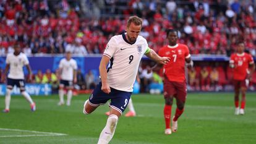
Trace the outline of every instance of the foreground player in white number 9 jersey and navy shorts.
<path fill-rule="evenodd" d="M 160 64 L 169 62 L 169 58 L 160 57 L 153 49 L 148 48 L 147 40 L 139 36 L 141 28 L 142 19 L 137 16 L 129 17 L 126 33 L 115 35 L 109 40 L 99 67 L 101 82 L 83 105 L 83 113 L 90 114 L 98 106 L 111 100 L 110 114 L 100 133 L 98 144 L 109 143 L 112 139 L 117 120 L 130 100 L 143 54 Z"/>

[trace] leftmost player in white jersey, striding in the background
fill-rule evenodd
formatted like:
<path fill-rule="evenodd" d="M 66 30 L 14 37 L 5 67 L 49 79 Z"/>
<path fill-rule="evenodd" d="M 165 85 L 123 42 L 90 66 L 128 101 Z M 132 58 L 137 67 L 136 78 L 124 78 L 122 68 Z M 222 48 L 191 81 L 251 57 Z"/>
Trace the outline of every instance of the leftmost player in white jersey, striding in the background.
<path fill-rule="evenodd" d="M 6 57 L 6 69 L 4 74 L 7 75 L 8 70 L 10 69 L 9 74 L 7 75 L 7 89 L 6 89 L 6 108 L 2 112 L 10 111 L 10 103 L 11 103 L 11 91 L 16 87 L 20 88 L 20 93 L 24 96 L 24 98 L 30 103 L 31 111 L 36 110 L 36 105 L 33 102 L 30 95 L 25 91 L 25 82 L 24 82 L 24 72 L 23 66 L 26 66 L 29 73 L 29 80 L 32 79 L 32 70 L 29 66 L 28 58 L 25 54 L 20 52 L 19 44 L 14 44 L 14 53 L 7 54 Z M 2 77 L 2 82 L 6 77 Z"/>

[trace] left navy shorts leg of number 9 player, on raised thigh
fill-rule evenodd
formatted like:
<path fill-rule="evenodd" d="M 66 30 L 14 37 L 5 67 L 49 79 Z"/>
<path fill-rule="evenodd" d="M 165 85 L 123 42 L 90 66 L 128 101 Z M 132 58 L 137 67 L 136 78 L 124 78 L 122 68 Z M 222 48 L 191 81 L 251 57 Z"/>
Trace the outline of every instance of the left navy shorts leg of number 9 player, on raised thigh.
<path fill-rule="evenodd" d="M 111 91 L 112 92 L 112 91 Z M 96 85 L 93 93 L 89 97 L 89 104 L 91 106 L 100 106 L 105 104 L 111 98 L 111 93 L 104 93 L 101 90 L 101 83 Z"/>

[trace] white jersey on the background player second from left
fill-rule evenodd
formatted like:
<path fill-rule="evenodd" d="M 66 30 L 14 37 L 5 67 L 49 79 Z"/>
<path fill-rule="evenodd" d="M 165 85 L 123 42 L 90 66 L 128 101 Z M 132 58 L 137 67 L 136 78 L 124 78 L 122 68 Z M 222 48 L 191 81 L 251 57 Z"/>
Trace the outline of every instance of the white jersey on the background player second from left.
<path fill-rule="evenodd" d="M 61 71 L 61 80 L 73 80 L 74 70 L 77 70 L 77 62 L 74 59 L 67 61 L 66 58 L 61 59 L 59 62 Z"/>

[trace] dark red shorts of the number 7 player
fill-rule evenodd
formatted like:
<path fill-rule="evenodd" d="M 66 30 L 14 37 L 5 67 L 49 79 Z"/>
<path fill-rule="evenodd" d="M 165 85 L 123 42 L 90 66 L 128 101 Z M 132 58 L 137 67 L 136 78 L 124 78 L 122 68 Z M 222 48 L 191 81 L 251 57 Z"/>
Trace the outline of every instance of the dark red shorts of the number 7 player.
<path fill-rule="evenodd" d="M 164 98 L 170 98 L 171 96 L 174 96 L 175 98 L 177 98 L 185 103 L 186 97 L 187 97 L 186 81 L 173 82 L 173 81 L 169 81 L 167 78 L 165 78 L 165 80 L 164 80 Z"/>

